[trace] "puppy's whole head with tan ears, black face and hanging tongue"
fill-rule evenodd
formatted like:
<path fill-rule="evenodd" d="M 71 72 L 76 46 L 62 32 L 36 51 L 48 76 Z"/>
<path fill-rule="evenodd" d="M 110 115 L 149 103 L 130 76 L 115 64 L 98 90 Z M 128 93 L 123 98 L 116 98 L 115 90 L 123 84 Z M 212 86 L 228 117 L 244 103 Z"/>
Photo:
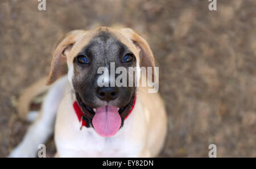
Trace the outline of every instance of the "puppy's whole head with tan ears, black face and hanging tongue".
<path fill-rule="evenodd" d="M 154 57 L 147 41 L 133 29 L 75 30 L 57 43 L 47 85 L 66 74 L 68 67 L 69 82 L 86 120 L 98 134 L 110 137 L 133 105 L 140 66 L 154 67 Z M 118 77 L 121 73 L 127 78 Z"/>

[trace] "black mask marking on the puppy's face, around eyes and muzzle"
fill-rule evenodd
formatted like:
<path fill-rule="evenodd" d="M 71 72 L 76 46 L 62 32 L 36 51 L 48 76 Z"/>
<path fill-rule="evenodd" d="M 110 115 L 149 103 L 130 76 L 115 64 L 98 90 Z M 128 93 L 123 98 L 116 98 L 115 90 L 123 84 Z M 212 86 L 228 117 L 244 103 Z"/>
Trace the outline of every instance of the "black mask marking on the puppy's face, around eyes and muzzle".
<path fill-rule="evenodd" d="M 86 64 L 81 64 L 82 60 L 77 61 L 77 57 L 86 56 Z M 129 56 L 124 59 L 123 57 Z M 133 57 L 132 59 L 130 58 Z M 128 67 L 136 67 L 136 59 L 129 48 L 121 43 L 112 33 L 102 31 L 89 41 L 73 60 L 74 77 L 72 79 L 73 87 L 76 92 L 77 101 L 85 114 L 85 119 L 92 125 L 94 116 L 93 108 L 99 108 L 107 104 L 118 107 L 119 114 L 123 120 L 129 113 L 133 105 L 134 94 L 137 88 L 135 81 L 137 77 L 133 77 L 133 87 L 118 87 L 118 95 L 114 98 L 104 98 L 97 95 L 99 87 L 97 79 L 101 74 L 97 74 L 99 67 L 108 67 L 110 71 L 110 62 L 115 63 L 115 69 L 122 66 L 127 69 L 127 86 L 128 86 Z M 115 74 L 115 78 L 120 74 Z M 104 94 L 102 94 L 104 95 Z"/>

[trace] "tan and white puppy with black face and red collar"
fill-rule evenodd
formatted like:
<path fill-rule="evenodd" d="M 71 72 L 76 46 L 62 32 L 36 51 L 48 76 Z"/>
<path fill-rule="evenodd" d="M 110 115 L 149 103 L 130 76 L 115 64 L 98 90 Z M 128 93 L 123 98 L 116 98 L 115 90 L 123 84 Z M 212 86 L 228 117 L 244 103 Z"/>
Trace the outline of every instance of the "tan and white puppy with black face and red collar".
<path fill-rule="evenodd" d="M 118 67 L 127 70 L 127 79 L 119 78 L 124 85 L 100 86 L 118 79 Z M 141 73 L 141 67 L 153 67 L 152 77 Z M 67 33 L 57 43 L 48 77 L 19 99 L 18 114 L 26 119 L 32 98 L 48 90 L 39 116 L 10 157 L 36 157 L 53 128 L 55 157 L 156 157 L 166 137 L 166 111 L 157 90 L 136 85 L 143 78 L 158 83 L 154 67 L 147 41 L 133 29 Z M 133 85 L 127 85 L 128 79 Z"/>

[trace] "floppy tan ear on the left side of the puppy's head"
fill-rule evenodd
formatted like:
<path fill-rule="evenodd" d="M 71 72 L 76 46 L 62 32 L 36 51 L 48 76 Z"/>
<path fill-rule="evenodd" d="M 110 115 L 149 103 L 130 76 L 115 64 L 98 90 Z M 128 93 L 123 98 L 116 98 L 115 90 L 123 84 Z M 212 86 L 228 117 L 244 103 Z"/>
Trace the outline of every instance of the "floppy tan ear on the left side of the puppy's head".
<path fill-rule="evenodd" d="M 51 70 L 46 85 L 55 82 L 61 75 L 67 73 L 67 56 L 73 44 L 85 34 L 83 30 L 74 30 L 63 36 L 56 45 L 51 61 Z"/>

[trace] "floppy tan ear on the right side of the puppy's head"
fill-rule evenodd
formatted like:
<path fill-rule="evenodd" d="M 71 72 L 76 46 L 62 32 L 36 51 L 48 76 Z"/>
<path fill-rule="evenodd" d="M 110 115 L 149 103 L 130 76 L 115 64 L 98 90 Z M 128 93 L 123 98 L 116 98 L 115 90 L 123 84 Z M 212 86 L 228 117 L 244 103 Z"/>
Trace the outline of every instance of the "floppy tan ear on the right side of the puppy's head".
<path fill-rule="evenodd" d="M 134 44 L 141 49 L 142 59 L 140 61 L 140 66 L 152 67 L 152 81 L 154 82 L 155 59 L 147 41 L 142 36 L 140 36 L 139 33 L 137 33 L 131 28 L 122 28 L 120 29 L 120 31 L 124 36 L 132 40 Z"/>

